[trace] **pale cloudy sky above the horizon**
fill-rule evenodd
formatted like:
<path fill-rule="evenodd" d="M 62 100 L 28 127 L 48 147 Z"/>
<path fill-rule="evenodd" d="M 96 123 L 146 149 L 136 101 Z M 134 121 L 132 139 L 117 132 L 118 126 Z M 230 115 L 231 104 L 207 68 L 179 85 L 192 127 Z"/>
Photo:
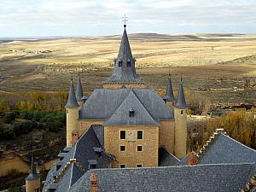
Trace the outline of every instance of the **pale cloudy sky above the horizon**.
<path fill-rule="evenodd" d="M 0 0 L 0 38 L 256 34 L 256 0 Z"/>

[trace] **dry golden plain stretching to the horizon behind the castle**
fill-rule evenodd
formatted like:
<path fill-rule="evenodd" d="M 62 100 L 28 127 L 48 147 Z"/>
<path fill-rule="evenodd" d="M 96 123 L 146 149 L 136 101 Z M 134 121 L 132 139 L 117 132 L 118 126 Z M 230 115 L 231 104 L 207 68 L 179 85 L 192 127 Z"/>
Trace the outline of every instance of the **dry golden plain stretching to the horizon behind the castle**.
<path fill-rule="evenodd" d="M 94 90 L 108 79 L 120 38 L 0 43 L 0 90 L 68 90 L 69 79 L 78 73 L 82 73 L 84 90 Z M 139 33 L 129 38 L 137 59 L 137 73 L 149 87 L 164 89 L 169 70 L 175 89 L 179 76 L 183 75 L 185 87 L 190 90 L 215 89 L 215 100 L 230 99 L 222 94 L 234 87 L 244 88 L 245 79 L 252 85 L 255 83 L 256 35 Z M 201 93 L 212 96 L 207 91 Z M 243 94 L 235 96 L 237 101 L 243 97 Z"/>

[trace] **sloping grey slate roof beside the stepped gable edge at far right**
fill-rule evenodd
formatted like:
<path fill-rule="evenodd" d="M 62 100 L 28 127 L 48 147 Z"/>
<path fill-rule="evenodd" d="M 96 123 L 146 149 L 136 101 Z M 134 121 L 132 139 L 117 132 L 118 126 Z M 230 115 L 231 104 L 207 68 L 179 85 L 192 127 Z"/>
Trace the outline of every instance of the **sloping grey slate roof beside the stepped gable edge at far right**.
<path fill-rule="evenodd" d="M 256 150 L 248 148 L 229 136 L 219 134 L 206 148 L 199 163 L 254 163 L 252 172 L 256 173 Z"/>

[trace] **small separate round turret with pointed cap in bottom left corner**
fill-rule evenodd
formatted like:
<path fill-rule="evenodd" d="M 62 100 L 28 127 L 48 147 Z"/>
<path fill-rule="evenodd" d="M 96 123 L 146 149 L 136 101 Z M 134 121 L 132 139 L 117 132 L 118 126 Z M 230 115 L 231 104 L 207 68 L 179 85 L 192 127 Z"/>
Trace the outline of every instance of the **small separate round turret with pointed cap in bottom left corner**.
<path fill-rule="evenodd" d="M 34 157 L 31 156 L 30 173 L 26 177 L 26 192 L 39 192 L 41 191 L 41 177 L 36 171 L 34 164 Z"/>

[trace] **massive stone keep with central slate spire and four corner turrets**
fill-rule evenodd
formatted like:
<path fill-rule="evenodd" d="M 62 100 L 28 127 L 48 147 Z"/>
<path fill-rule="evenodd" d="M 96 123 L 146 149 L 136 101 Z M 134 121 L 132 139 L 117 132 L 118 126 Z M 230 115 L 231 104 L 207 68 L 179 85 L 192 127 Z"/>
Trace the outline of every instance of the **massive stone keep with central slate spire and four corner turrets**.
<path fill-rule="evenodd" d="M 116 157 L 112 167 L 158 166 L 160 148 L 179 159 L 186 155 L 188 105 L 183 82 L 175 99 L 169 74 L 166 96 L 158 96 L 137 76 L 135 62 L 125 29 L 113 73 L 103 82 L 103 89 L 84 96 L 80 75 L 76 91 L 71 81 L 66 104 L 67 148 L 91 126 L 100 125 L 102 149 Z"/>

